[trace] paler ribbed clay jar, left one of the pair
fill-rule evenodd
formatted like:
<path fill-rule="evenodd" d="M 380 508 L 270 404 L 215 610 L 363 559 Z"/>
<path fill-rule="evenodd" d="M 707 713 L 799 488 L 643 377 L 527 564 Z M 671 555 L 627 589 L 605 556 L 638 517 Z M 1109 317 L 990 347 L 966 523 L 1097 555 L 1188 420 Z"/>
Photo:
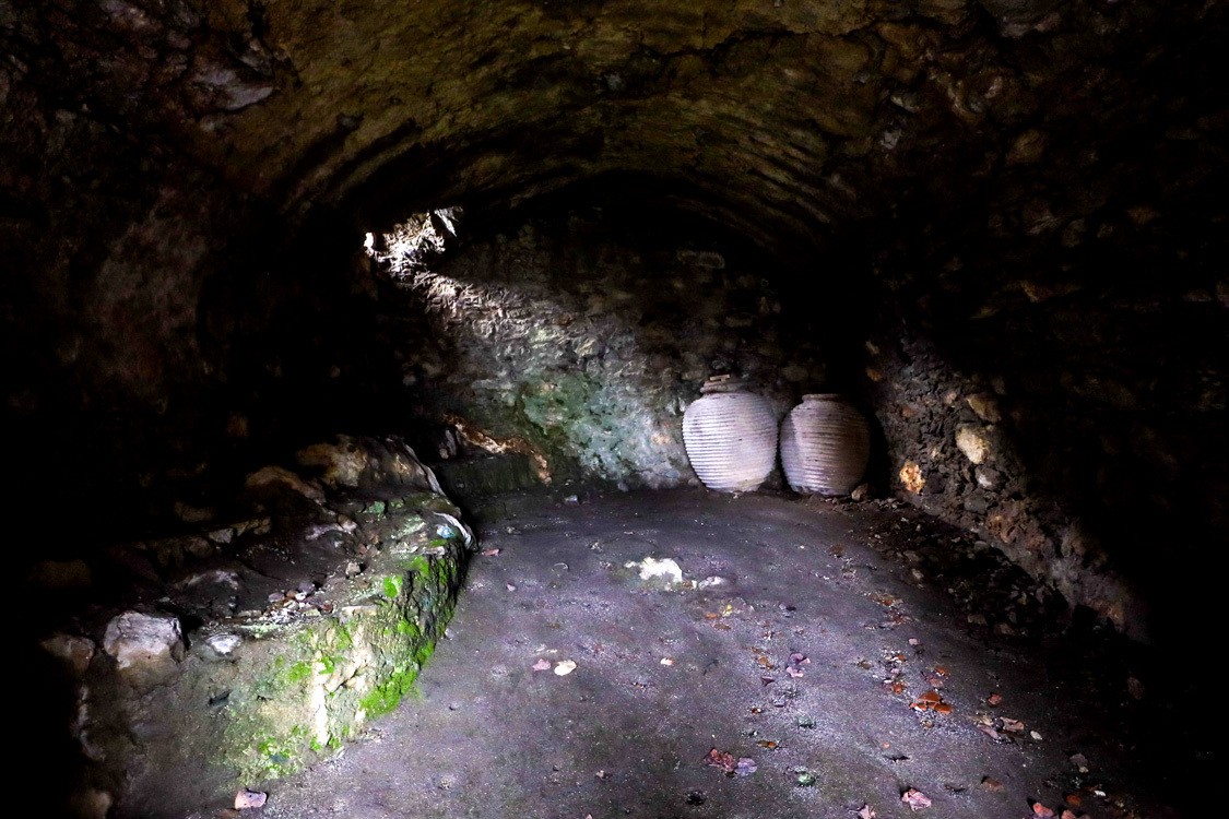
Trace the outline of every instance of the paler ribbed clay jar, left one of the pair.
<path fill-rule="evenodd" d="M 683 413 L 683 446 L 701 481 L 719 492 L 750 492 L 777 465 L 777 415 L 762 395 L 705 384 Z"/>

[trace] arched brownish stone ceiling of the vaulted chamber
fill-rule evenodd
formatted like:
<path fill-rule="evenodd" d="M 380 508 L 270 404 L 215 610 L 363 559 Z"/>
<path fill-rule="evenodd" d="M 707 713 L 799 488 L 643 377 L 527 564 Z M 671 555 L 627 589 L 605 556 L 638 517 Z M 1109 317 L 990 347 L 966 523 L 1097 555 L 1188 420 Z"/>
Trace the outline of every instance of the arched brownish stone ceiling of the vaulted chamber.
<path fill-rule="evenodd" d="M 628 173 L 760 238 L 884 212 L 907 183 L 959 201 L 1050 145 L 1073 166 L 1150 150 L 1160 112 L 1206 108 L 1172 80 L 1214 39 L 1213 6 L 1111 0 L 0 7 L 42 82 L 291 216 Z"/>

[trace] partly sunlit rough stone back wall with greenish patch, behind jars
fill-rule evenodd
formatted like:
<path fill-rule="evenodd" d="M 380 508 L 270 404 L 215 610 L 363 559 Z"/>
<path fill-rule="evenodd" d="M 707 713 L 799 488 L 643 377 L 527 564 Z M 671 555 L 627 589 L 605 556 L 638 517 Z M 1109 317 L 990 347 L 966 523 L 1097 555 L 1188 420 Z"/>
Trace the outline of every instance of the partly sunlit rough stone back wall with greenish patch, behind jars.
<path fill-rule="evenodd" d="M 745 377 L 779 415 L 823 382 L 769 269 L 586 219 L 528 221 L 406 276 L 426 334 L 404 344 L 404 382 L 424 414 L 527 441 L 558 476 L 660 487 L 696 481 L 682 413 L 707 377 Z"/>

